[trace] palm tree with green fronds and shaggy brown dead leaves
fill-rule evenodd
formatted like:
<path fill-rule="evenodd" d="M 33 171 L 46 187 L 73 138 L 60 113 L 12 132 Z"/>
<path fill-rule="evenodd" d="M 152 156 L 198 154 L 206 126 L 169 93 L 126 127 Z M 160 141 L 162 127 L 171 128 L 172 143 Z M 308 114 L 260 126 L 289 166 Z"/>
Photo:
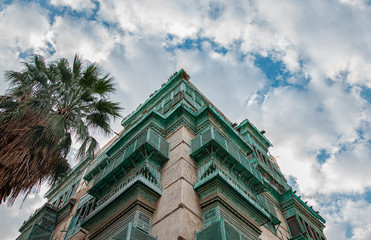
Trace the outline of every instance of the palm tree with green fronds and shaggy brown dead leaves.
<path fill-rule="evenodd" d="M 113 79 L 96 63 L 84 67 L 76 55 L 72 67 L 64 58 L 47 65 L 35 55 L 24 66 L 6 72 L 11 86 L 0 96 L 0 204 L 63 177 L 72 138 L 81 144 L 77 159 L 93 156 L 92 131 L 111 133 L 110 118 L 120 116 L 109 100 Z"/>

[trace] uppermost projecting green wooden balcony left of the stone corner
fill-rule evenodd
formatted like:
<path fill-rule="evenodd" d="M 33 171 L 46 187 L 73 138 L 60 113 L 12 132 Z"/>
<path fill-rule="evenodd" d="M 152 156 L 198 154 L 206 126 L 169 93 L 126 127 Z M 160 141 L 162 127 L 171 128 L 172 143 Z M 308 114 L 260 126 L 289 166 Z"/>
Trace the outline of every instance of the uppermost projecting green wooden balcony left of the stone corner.
<path fill-rule="evenodd" d="M 92 167 L 90 172 L 87 172 L 84 179 L 93 179 L 91 192 L 104 190 L 107 186 L 115 184 L 122 174 L 126 174 L 128 169 L 135 167 L 137 163 L 144 159 L 151 158 L 159 165 L 164 164 L 170 155 L 170 144 L 153 130 L 148 129 L 141 134 L 132 143 L 122 151 L 115 159 L 112 159 L 104 169 L 96 171 L 96 167 Z M 98 160 L 98 159 L 97 159 Z M 101 161 L 105 161 L 103 158 Z M 101 166 L 102 163 L 97 163 Z M 90 177 L 90 176 L 94 177 Z M 87 177 L 89 176 L 89 177 Z"/>

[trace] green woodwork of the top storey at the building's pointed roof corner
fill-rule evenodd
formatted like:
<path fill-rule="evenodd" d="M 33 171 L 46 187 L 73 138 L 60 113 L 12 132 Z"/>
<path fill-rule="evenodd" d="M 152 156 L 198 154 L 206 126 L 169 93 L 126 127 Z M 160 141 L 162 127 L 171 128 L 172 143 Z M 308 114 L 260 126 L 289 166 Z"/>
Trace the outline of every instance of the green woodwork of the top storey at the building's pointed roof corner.
<path fill-rule="evenodd" d="M 207 100 L 198 90 L 187 81 L 189 76 L 183 71 L 179 71 L 175 74 L 166 84 L 164 84 L 156 93 L 148 99 L 143 105 L 140 105 L 138 109 L 123 120 L 123 125 L 128 132 L 132 128 L 143 125 L 145 118 L 157 113 L 159 117 L 153 119 L 157 125 L 165 125 L 162 130 L 166 132 L 166 135 L 170 132 L 168 131 L 170 125 L 173 122 L 179 121 L 180 119 L 175 119 L 179 113 L 179 108 L 184 108 L 190 115 L 185 116 L 188 119 L 184 122 L 185 125 L 189 127 L 191 131 L 195 134 L 202 129 L 204 125 L 210 125 L 210 118 L 213 119 L 215 124 L 220 125 L 230 138 L 238 142 L 238 145 L 243 151 L 251 152 L 249 143 L 244 139 L 236 129 L 232 127 L 231 122 L 216 109 L 212 103 Z M 163 110 L 163 107 L 171 102 L 171 108 L 169 110 Z M 161 110 L 162 109 L 162 110 Z M 181 111 L 184 115 L 186 111 Z M 211 113 L 211 115 L 209 115 Z M 162 118 L 160 117 L 162 116 Z M 179 115 L 178 115 L 179 116 Z M 204 119 L 204 121 L 202 120 Z M 175 121 L 174 121 L 175 120 Z M 160 127 L 161 128 L 161 127 Z M 115 142 L 121 141 L 121 136 Z M 116 147 L 116 144 L 112 144 L 112 148 Z M 111 150 L 108 150 L 111 151 Z M 108 153 L 108 155 L 112 155 Z"/>

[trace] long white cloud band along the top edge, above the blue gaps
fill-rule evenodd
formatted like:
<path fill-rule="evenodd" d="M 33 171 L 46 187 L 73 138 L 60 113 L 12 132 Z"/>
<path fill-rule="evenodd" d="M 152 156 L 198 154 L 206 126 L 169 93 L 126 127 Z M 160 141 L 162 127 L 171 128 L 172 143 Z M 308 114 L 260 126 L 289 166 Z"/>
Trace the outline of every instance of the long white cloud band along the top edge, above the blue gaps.
<path fill-rule="evenodd" d="M 290 71 L 304 61 L 310 74 L 333 78 L 347 71 L 350 83 L 370 85 L 370 11 L 333 1 L 102 1 L 100 17 L 142 36 L 206 37 L 227 48 L 240 41 L 242 50 L 270 53 Z"/>

